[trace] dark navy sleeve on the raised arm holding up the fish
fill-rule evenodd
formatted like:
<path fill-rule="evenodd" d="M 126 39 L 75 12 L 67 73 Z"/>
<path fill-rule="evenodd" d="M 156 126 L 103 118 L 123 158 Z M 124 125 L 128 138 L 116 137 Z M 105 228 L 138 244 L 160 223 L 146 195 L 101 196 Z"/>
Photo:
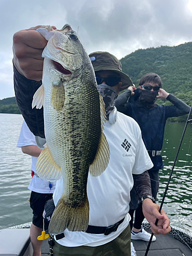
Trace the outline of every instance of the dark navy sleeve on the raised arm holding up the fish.
<path fill-rule="evenodd" d="M 14 90 L 18 108 L 30 129 L 30 131 L 41 138 L 45 138 L 44 134 L 44 110 L 32 109 L 33 95 L 41 86 L 41 81 L 27 79 L 21 75 L 13 65 L 14 71 Z"/>

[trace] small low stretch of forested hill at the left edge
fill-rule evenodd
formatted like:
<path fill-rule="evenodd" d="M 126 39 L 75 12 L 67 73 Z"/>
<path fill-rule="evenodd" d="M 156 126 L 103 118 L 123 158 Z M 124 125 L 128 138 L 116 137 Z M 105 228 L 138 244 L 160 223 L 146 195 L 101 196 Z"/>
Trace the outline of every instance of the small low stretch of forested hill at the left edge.
<path fill-rule="evenodd" d="M 0 113 L 20 114 L 15 97 L 0 100 Z"/>

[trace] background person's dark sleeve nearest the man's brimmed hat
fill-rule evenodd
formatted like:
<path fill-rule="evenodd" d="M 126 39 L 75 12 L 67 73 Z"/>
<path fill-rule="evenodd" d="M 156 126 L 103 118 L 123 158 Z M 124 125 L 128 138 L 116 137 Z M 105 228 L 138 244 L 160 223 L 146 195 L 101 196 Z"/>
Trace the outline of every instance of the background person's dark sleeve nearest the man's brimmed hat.
<path fill-rule="evenodd" d="M 127 111 L 129 109 L 129 103 L 127 103 L 127 100 L 131 96 L 131 93 L 131 90 L 126 90 L 124 93 L 121 93 L 115 100 L 115 106 L 117 110 L 125 115 L 127 115 Z"/>

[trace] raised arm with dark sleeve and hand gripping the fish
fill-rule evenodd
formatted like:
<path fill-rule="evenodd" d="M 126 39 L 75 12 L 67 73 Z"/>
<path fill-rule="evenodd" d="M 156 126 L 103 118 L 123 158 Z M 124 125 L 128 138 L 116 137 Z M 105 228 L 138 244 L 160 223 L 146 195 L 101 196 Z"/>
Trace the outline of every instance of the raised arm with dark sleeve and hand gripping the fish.
<path fill-rule="evenodd" d="M 33 95 L 41 85 L 41 54 L 47 45 L 47 40 L 36 31 L 39 27 L 20 30 L 13 36 L 14 90 L 18 108 L 30 131 L 45 138 L 43 109 L 31 106 Z"/>

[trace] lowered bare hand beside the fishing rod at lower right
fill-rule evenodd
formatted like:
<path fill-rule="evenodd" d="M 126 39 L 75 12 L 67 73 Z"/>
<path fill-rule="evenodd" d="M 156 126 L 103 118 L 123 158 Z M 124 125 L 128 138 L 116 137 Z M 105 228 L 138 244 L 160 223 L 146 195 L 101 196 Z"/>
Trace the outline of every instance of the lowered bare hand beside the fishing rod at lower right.
<path fill-rule="evenodd" d="M 159 212 L 160 205 L 152 202 L 151 199 L 145 199 L 142 203 L 143 215 L 151 225 L 151 230 L 154 234 L 167 234 L 170 232 L 170 221 L 162 209 Z M 155 225 L 156 219 L 158 219 L 157 226 Z"/>

